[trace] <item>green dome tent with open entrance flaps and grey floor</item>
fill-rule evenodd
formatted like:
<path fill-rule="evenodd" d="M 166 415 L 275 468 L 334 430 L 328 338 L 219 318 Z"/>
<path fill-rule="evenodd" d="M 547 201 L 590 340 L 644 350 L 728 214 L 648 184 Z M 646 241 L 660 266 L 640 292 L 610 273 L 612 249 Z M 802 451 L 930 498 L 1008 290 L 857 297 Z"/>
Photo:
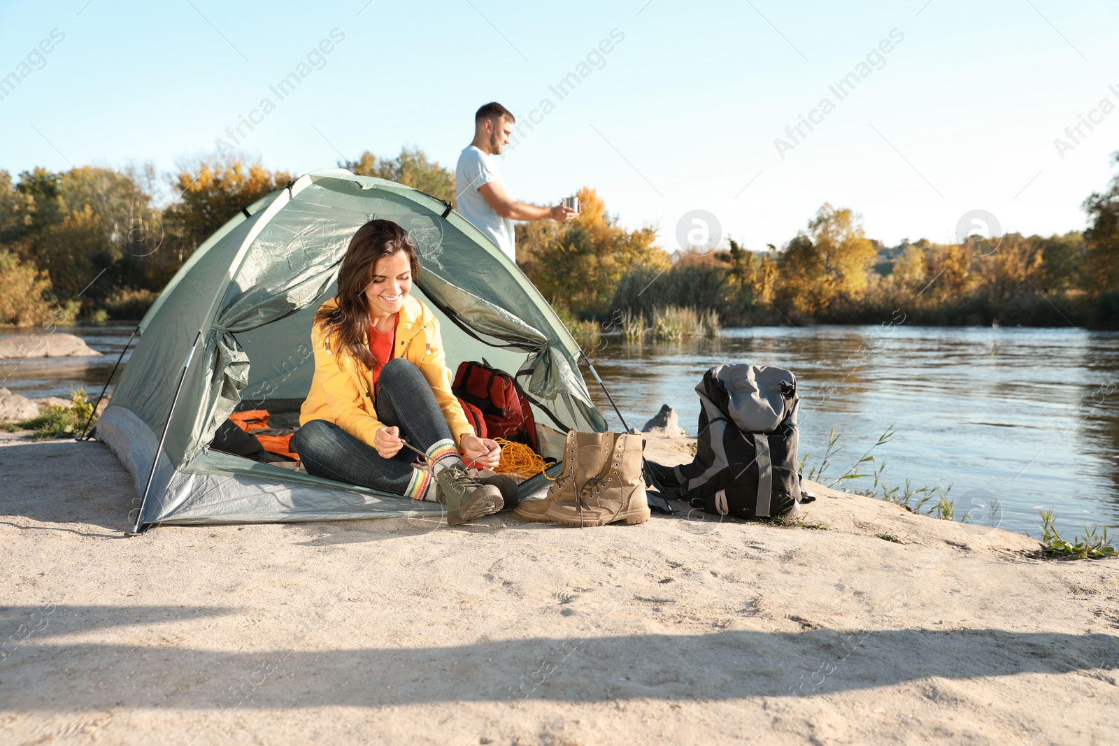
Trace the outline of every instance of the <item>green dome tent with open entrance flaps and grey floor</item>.
<path fill-rule="evenodd" d="M 135 530 L 441 512 L 209 448 L 235 410 L 298 413 L 314 372 L 311 319 L 335 295 L 350 237 L 374 218 L 398 223 L 415 240 L 422 270 L 413 294 L 439 317 L 452 370 L 485 357 L 516 371 L 546 408 L 538 423 L 557 433 L 605 429 L 579 371 L 579 346 L 481 232 L 415 189 L 340 169 L 312 171 L 244 208 L 199 246 L 140 322 L 140 341 L 94 431 L 132 474 Z M 543 481 L 525 482 L 521 493 Z"/>

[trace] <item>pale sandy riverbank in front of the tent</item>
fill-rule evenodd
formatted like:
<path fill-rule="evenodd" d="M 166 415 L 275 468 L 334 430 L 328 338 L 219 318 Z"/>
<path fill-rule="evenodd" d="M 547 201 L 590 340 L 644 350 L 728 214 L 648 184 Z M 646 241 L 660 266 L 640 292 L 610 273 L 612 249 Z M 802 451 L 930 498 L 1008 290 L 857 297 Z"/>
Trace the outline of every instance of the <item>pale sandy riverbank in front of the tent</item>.
<path fill-rule="evenodd" d="M 499 514 L 126 539 L 106 447 L 0 435 L 2 743 L 1119 737 L 1119 560 L 820 487 L 803 522 L 826 529 Z"/>

